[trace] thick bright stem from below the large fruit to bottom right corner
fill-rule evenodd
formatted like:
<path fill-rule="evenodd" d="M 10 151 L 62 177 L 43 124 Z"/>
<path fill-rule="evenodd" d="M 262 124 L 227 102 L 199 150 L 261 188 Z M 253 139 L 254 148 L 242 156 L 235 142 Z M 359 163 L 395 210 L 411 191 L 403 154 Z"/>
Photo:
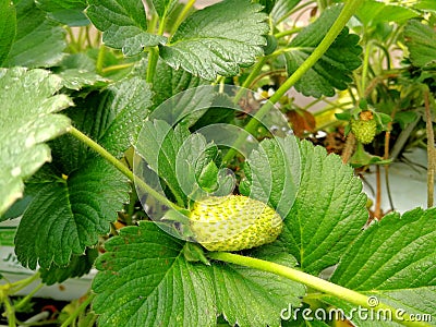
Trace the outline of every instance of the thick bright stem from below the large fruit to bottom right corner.
<path fill-rule="evenodd" d="M 254 269 L 258 269 L 266 272 L 271 272 L 293 281 L 304 283 L 305 286 L 315 289 L 317 291 L 324 292 L 326 294 L 336 296 L 338 299 L 344 300 L 352 304 L 359 305 L 361 307 L 366 307 L 370 310 L 387 310 L 391 312 L 391 316 L 396 322 L 399 322 L 405 326 L 428 326 L 424 323 L 411 322 L 411 317 L 408 314 L 402 315 L 400 319 L 396 315 L 396 308 L 384 303 L 378 303 L 376 306 L 371 306 L 371 298 L 353 290 L 347 289 L 344 287 L 335 284 L 327 280 L 320 279 L 318 277 L 312 276 L 310 274 L 281 266 L 275 263 L 262 261 L 254 257 L 247 257 L 239 254 L 226 253 L 226 252 L 210 252 L 208 256 L 216 261 L 221 261 L 230 264 L 235 264 L 240 266 L 245 266 Z"/>

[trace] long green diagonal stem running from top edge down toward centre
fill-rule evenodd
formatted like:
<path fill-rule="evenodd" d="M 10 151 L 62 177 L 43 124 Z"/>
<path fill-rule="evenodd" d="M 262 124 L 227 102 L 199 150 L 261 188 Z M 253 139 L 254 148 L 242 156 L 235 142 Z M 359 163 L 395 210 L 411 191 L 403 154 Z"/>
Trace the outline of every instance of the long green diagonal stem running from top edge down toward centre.
<path fill-rule="evenodd" d="M 338 37 L 339 33 L 343 29 L 347 22 L 354 14 L 358 7 L 362 3 L 360 0 L 350 0 L 348 1 L 342 11 L 340 12 L 338 19 L 331 25 L 330 29 L 327 32 L 326 36 L 319 43 L 319 45 L 315 48 L 311 56 L 296 69 L 296 71 L 289 76 L 287 81 L 276 90 L 276 93 L 269 98 L 269 101 L 266 101 L 264 106 L 256 112 L 256 114 L 250 120 L 250 122 L 245 126 L 245 131 L 252 133 L 258 121 L 274 107 L 274 104 L 278 102 L 280 98 L 323 57 L 323 55 L 328 50 L 335 39 Z M 241 133 L 241 136 L 238 137 L 232 148 L 230 148 L 225 158 L 225 162 L 229 162 L 237 152 L 234 148 L 239 148 L 241 143 L 245 140 L 245 134 Z"/>

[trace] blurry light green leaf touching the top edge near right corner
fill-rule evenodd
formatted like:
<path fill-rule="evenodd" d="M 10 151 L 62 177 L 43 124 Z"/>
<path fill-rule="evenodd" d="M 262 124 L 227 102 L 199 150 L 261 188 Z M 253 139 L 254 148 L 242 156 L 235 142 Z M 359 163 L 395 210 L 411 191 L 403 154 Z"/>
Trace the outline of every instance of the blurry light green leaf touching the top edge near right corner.
<path fill-rule="evenodd" d="M 366 26 L 385 22 L 402 23 L 417 15 L 416 11 L 405 5 L 385 4 L 374 0 L 363 1 L 356 12 L 358 19 Z"/>

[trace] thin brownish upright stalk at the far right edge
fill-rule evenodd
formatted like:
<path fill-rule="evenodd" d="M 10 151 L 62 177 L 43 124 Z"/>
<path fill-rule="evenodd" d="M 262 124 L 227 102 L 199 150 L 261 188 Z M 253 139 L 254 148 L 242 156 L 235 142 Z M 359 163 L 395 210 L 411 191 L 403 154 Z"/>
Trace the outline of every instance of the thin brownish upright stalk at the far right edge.
<path fill-rule="evenodd" d="M 433 131 L 432 112 L 429 109 L 429 90 L 428 88 L 424 92 L 424 105 L 425 105 L 425 121 L 427 130 L 427 207 L 431 208 L 434 205 L 435 196 L 435 170 L 436 170 L 436 152 L 435 152 L 435 134 Z"/>

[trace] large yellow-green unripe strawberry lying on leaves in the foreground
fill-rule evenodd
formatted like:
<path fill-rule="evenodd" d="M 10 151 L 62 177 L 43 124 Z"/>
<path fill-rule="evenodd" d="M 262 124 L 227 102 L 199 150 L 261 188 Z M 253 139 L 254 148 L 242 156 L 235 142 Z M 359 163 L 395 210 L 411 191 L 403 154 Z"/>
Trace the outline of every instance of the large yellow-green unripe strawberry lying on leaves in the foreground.
<path fill-rule="evenodd" d="M 279 214 L 242 196 L 213 196 L 194 204 L 191 229 L 209 251 L 240 251 L 274 242 L 283 228 Z"/>

